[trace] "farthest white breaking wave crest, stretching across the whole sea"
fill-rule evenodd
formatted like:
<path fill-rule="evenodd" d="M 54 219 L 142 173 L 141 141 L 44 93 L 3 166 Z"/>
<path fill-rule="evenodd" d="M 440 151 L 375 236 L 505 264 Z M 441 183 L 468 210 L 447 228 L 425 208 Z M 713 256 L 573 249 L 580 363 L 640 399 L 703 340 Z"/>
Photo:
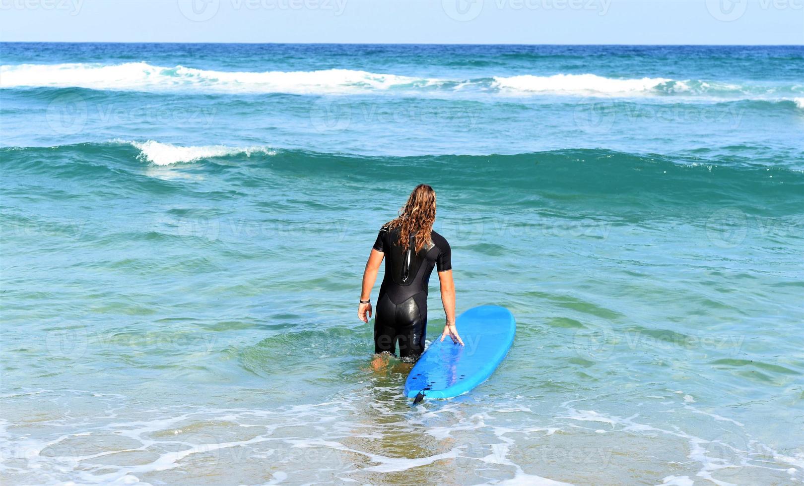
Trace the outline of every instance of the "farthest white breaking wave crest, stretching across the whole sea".
<path fill-rule="evenodd" d="M 448 80 L 351 69 L 210 71 L 149 63 L 18 64 L 0 66 L 0 88 L 87 88 L 100 91 L 189 91 L 338 95 L 371 92 L 467 92 L 515 96 L 705 96 L 725 100 L 790 100 L 802 86 L 732 84 L 664 77 L 610 78 L 595 74 L 492 76 Z M 804 98 L 796 97 L 799 108 Z"/>

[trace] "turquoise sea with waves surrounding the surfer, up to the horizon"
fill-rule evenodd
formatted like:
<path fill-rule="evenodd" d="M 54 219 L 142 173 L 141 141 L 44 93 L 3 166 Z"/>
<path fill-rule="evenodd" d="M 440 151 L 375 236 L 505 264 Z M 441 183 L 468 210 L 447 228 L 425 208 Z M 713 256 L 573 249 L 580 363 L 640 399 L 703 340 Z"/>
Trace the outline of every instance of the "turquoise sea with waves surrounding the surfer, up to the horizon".
<path fill-rule="evenodd" d="M 804 48 L 0 53 L 4 484 L 804 481 Z M 411 407 L 355 304 L 419 182 L 518 333 Z"/>

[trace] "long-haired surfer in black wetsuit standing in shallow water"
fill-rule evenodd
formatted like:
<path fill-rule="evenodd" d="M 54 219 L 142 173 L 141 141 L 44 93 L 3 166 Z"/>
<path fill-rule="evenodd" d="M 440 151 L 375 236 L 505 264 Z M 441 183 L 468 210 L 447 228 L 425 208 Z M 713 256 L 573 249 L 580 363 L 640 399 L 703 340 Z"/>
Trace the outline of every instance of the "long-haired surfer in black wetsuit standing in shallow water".
<path fill-rule="evenodd" d="M 441 283 L 441 302 L 446 323 L 441 333 L 453 343 L 463 345 L 455 328 L 455 284 L 449 243 L 433 231 L 436 219 L 436 192 L 420 184 L 408 197 L 398 218 L 379 229 L 363 272 L 358 317 L 371 317 L 371 288 L 377 280 L 379 264 L 385 257 L 385 276 L 377 297 L 374 320 L 374 352 L 396 354 L 416 360 L 425 350 L 427 292 L 433 267 Z"/>

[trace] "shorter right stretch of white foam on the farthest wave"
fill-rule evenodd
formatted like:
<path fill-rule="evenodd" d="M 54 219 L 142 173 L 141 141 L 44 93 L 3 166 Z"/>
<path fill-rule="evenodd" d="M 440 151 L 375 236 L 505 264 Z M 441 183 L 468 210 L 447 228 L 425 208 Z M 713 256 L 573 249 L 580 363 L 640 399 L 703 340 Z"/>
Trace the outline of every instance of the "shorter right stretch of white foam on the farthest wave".
<path fill-rule="evenodd" d="M 494 87 L 510 92 L 548 92 L 572 95 L 640 95 L 673 80 L 642 78 L 617 80 L 593 74 L 556 74 L 553 76 L 494 77 Z M 677 84 L 676 88 L 683 88 Z"/>

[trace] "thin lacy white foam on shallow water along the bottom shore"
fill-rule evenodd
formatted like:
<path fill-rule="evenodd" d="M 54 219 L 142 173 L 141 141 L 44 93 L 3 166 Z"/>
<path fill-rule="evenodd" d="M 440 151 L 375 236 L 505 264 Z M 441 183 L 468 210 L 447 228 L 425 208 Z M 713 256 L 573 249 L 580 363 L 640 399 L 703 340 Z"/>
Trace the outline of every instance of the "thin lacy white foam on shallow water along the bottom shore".
<path fill-rule="evenodd" d="M 529 435 L 531 432 L 542 432 L 543 435 L 546 432 L 546 435 L 549 435 L 554 431 L 560 431 L 560 428 L 522 427 L 522 422 L 512 420 L 511 415 L 498 413 L 499 410 L 470 414 L 467 410 L 471 408 L 466 407 L 466 402 L 439 401 L 425 403 L 419 407 L 423 409 L 424 406 L 430 406 L 433 413 L 428 414 L 412 414 L 408 406 L 389 409 L 388 413 L 399 419 L 392 425 L 400 433 L 418 434 L 424 429 L 437 431 L 431 435 L 441 439 L 425 441 L 426 444 L 432 445 L 426 445 L 421 449 L 421 452 L 429 451 L 428 454 L 417 453 L 412 458 L 400 457 L 395 449 L 368 445 L 381 443 L 382 439 L 387 438 L 388 423 L 354 418 L 365 416 L 361 413 L 366 410 L 367 400 L 378 399 L 377 389 L 384 390 L 383 394 L 388 392 L 392 401 L 404 402 L 398 386 L 376 388 L 367 386 L 356 394 L 348 394 L 344 397 L 346 399 L 338 398 L 334 401 L 265 409 L 165 406 L 158 410 L 143 410 L 141 402 L 131 400 L 126 403 L 125 399 L 109 397 L 106 401 L 109 406 L 122 406 L 119 418 L 117 415 L 107 415 L 109 410 L 101 411 L 103 407 L 100 407 L 98 415 L 88 416 L 79 421 L 73 421 L 72 418 L 46 421 L 40 424 L 56 427 L 55 433 L 47 434 L 41 439 L 29 436 L 24 429 L 6 431 L 9 423 L 0 419 L 0 446 L 4 450 L 11 451 L 10 457 L 17 458 L 25 465 L 26 477 L 34 478 L 18 482 L 31 484 L 69 484 L 68 481 L 72 481 L 73 484 L 132 484 L 141 478 L 157 483 L 165 482 L 170 477 L 181 477 L 187 472 L 191 474 L 198 472 L 200 475 L 211 471 L 211 468 L 220 470 L 232 467 L 232 464 L 240 467 L 236 461 L 245 459 L 248 459 L 246 464 L 250 464 L 251 459 L 265 459 L 265 464 L 272 464 L 273 468 L 282 468 L 281 471 L 273 472 L 273 475 L 265 476 L 266 482 L 263 484 L 278 484 L 284 481 L 299 483 L 301 480 L 310 483 L 332 482 L 332 480 L 366 482 L 373 476 L 355 478 L 348 476 L 364 472 L 372 474 L 415 472 L 417 468 L 424 467 L 453 468 L 453 464 L 469 471 L 491 469 L 495 472 L 494 477 L 500 477 L 504 472 L 510 478 L 494 479 L 490 481 L 491 484 L 550 486 L 565 484 L 537 476 L 540 473 L 539 461 L 523 462 L 523 459 L 527 459 L 525 454 L 529 442 L 522 442 L 521 435 Z M 394 394 L 391 395 L 390 392 Z M 714 440 L 701 439 L 675 426 L 662 428 L 637 423 L 635 420 L 638 415 L 626 418 L 606 415 L 603 411 L 576 410 L 568 406 L 571 402 L 566 402 L 562 406 L 566 409 L 566 413 L 554 416 L 552 419 L 581 421 L 572 427 L 583 427 L 589 432 L 602 431 L 602 429 L 595 430 L 600 427 L 599 423 L 613 424 L 612 431 L 606 431 L 606 434 L 632 435 L 644 431 L 646 434 L 643 436 L 650 437 L 651 443 L 658 443 L 659 447 L 662 444 L 660 435 L 686 440 L 690 444 L 688 457 L 699 464 L 699 471 L 696 472 L 692 464 L 679 466 L 679 463 L 673 461 L 671 464 L 675 465 L 662 476 L 670 475 L 671 472 L 677 476 L 664 477 L 662 484 L 687 486 L 693 484 L 691 478 L 695 478 L 695 482 L 728 484 L 721 480 L 720 476 L 726 479 L 729 477 L 734 477 L 735 480 L 742 479 L 744 476 L 741 476 L 740 468 L 761 468 L 757 469 L 757 473 L 773 470 L 781 472 L 785 479 L 790 478 L 793 481 L 800 479 L 796 468 L 799 466 L 796 464 L 802 464 L 804 456 L 796 452 L 791 456 L 781 456 L 769 447 L 757 445 L 742 431 L 738 433 L 740 436 L 745 435 L 745 440 L 740 440 L 738 436 L 736 443 L 730 435 Z M 679 405 L 684 408 L 692 407 L 683 403 L 681 396 L 675 402 L 680 402 Z M 521 407 L 519 402 L 501 406 L 503 410 L 518 410 Z M 668 411 L 673 417 L 677 416 L 674 410 Z M 533 419 L 539 420 L 539 417 Z M 501 422 L 506 426 L 495 425 Z M 675 423 L 675 420 L 673 422 Z M 538 426 L 538 423 L 533 425 Z M 261 427 L 261 430 L 242 432 L 233 430 L 232 427 Z M 717 433 L 720 433 L 720 427 L 718 430 Z M 186 435 L 177 437 L 176 431 Z M 449 431 L 457 433 L 450 435 Z M 81 445 L 77 446 L 70 443 L 71 437 L 84 435 L 85 432 L 90 432 L 92 435 L 113 434 L 129 440 L 123 447 L 125 450 L 119 447 L 104 447 L 104 450 L 99 451 L 94 445 L 84 450 L 83 444 L 88 444 L 89 441 L 81 441 Z M 493 436 L 489 437 L 490 433 Z M 580 439 L 589 440 L 583 435 Z M 56 444 L 59 447 L 52 447 L 47 454 L 44 453 L 45 448 Z M 478 449 L 475 449 L 473 444 L 477 444 Z M 75 450 L 73 451 L 71 447 L 75 447 Z M 764 451 L 760 450 L 763 448 Z M 62 451 L 59 452 L 61 455 L 52 455 L 55 451 Z M 115 460 L 93 460 L 105 456 L 111 459 L 123 451 L 136 452 L 137 457 L 142 460 L 137 460 L 137 464 L 125 466 L 115 465 L 117 464 Z M 146 454 L 146 451 L 150 454 Z M 478 457 L 478 451 L 485 451 L 479 454 L 482 457 Z M 780 464 L 770 464 L 769 456 L 773 456 Z M 324 461 L 326 464 L 310 463 L 311 458 Z M 255 464 L 259 463 L 260 461 L 255 460 Z M 299 472 L 298 464 L 310 464 L 310 468 L 302 471 L 301 476 L 296 476 Z M 781 468 L 782 464 L 784 468 Z M 163 471 L 171 470 L 174 472 L 163 476 Z M 587 471 L 585 469 L 581 473 Z M 572 472 L 568 472 L 567 475 L 568 478 L 574 477 Z M 578 477 L 583 475 L 580 474 Z M 745 481 L 735 482 L 745 483 Z"/>

